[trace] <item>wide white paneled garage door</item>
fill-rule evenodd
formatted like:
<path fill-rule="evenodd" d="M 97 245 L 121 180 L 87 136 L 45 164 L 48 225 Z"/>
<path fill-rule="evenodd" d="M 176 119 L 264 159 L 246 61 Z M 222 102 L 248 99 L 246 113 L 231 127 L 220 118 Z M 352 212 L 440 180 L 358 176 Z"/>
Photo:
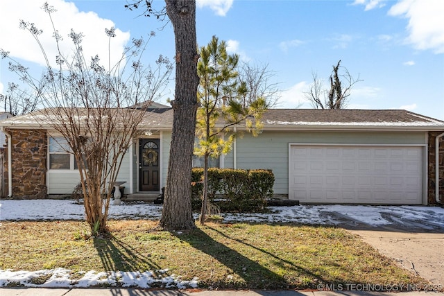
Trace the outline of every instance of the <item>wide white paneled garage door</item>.
<path fill-rule="evenodd" d="M 422 147 L 292 145 L 289 198 L 315 203 L 421 204 Z"/>

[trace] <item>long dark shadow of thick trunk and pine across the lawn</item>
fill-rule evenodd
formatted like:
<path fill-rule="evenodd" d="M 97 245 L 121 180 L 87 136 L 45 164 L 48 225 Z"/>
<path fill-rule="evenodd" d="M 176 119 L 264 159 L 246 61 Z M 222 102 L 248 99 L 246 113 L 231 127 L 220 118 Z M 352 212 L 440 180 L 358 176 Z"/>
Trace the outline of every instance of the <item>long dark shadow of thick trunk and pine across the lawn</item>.
<path fill-rule="evenodd" d="M 223 232 L 216 230 L 212 227 L 207 227 L 215 236 L 220 235 L 225 238 L 230 238 Z M 291 261 L 287 261 L 285 259 L 272 254 L 271 252 L 267 252 L 262 250 L 254 245 L 249 245 L 243 243 L 239 240 L 239 243 L 243 243 L 243 252 L 246 254 L 241 254 L 237 250 L 229 247 L 228 244 L 225 245 L 219 241 L 216 241 L 212 236 L 203 232 L 201 229 L 195 229 L 187 234 L 175 234 L 180 238 L 180 240 L 189 243 L 192 247 L 204 252 L 212 256 L 214 259 L 219 261 L 219 263 L 225 265 L 227 268 L 232 270 L 234 274 L 238 275 L 244 282 L 232 282 L 230 281 L 230 270 L 227 270 L 228 277 L 225 281 L 216 282 L 216 283 L 205 283 L 208 286 L 212 286 L 212 288 L 250 288 L 250 289 L 291 289 L 291 288 L 301 288 L 302 284 L 295 285 L 294 279 L 287 279 L 284 275 L 279 274 L 269 268 L 280 267 L 282 270 L 293 270 L 298 275 L 302 277 L 310 277 L 311 279 L 317 279 L 318 281 L 323 281 L 321 277 L 315 275 L 309 270 L 305 270 L 304 268 L 295 265 Z M 236 239 L 230 238 L 234 241 Z M 230 243 L 231 244 L 231 243 Z M 255 259 L 249 258 L 249 256 L 256 251 L 262 252 L 259 256 L 262 258 L 266 258 L 270 264 L 261 264 Z M 256 252 L 257 253 L 257 252 Z M 251 256 L 253 257 L 253 256 Z M 273 261 L 273 262 L 271 262 Z M 281 272 L 282 273 L 282 272 Z M 220 277 L 219 277 L 220 278 Z M 313 288 L 306 286 L 304 288 Z"/>

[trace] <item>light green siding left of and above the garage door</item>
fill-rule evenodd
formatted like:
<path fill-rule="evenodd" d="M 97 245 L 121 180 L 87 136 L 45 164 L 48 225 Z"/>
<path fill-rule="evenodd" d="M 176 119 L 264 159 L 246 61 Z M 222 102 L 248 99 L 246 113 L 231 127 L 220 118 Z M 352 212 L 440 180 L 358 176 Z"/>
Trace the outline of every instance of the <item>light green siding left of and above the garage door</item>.
<path fill-rule="evenodd" d="M 237 139 L 237 168 L 273 170 L 275 194 L 288 194 L 290 143 L 419 144 L 427 142 L 424 132 L 273 132 L 258 137 L 245 134 Z M 230 166 L 226 165 L 228 168 Z M 232 166 L 231 166 L 232 167 Z"/>

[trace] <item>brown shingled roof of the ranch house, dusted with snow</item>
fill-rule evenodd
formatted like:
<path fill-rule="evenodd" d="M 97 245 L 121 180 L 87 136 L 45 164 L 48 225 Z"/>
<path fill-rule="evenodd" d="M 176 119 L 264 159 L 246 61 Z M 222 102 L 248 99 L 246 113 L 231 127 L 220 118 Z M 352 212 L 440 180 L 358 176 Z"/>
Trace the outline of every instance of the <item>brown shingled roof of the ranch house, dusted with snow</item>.
<path fill-rule="evenodd" d="M 0 121 L 0 126 L 42 128 L 41 116 L 42 111 L 16 116 Z M 444 121 L 406 110 L 270 109 L 262 122 L 264 130 L 444 130 Z M 171 107 L 153 107 L 146 110 L 141 128 L 171 129 L 172 125 Z"/>

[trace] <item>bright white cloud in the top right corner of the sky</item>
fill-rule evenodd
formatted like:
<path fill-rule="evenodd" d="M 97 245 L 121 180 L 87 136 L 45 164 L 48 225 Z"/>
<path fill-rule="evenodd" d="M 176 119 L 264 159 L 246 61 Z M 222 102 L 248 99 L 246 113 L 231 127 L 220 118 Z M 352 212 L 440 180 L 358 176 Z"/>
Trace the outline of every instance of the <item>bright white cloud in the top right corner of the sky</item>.
<path fill-rule="evenodd" d="M 444 53 L 444 2 L 442 0 L 401 0 L 388 15 L 409 19 L 407 42 L 416 49 Z"/>

